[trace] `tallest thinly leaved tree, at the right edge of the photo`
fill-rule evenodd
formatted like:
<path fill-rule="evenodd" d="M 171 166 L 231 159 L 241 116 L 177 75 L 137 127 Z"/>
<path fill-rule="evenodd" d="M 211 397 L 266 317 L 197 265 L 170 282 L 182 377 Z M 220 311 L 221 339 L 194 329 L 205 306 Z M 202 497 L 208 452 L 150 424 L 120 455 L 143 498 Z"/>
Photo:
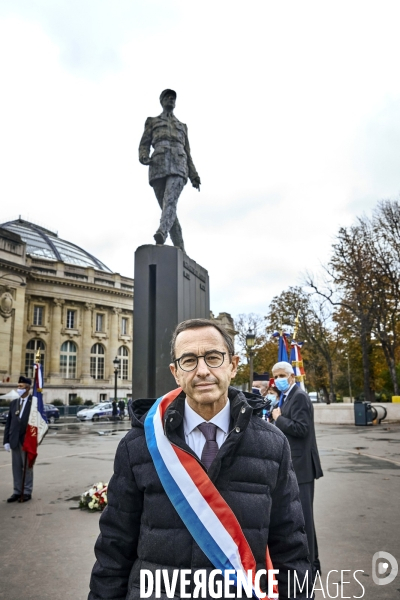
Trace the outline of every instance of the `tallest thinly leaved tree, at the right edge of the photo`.
<path fill-rule="evenodd" d="M 364 396 L 373 399 L 371 353 L 379 340 L 395 394 L 398 322 L 400 311 L 400 205 L 378 203 L 372 219 L 360 217 L 351 227 L 342 227 L 332 246 L 323 285 L 308 275 L 309 285 L 320 297 L 352 315 L 357 333 L 364 377 Z"/>

